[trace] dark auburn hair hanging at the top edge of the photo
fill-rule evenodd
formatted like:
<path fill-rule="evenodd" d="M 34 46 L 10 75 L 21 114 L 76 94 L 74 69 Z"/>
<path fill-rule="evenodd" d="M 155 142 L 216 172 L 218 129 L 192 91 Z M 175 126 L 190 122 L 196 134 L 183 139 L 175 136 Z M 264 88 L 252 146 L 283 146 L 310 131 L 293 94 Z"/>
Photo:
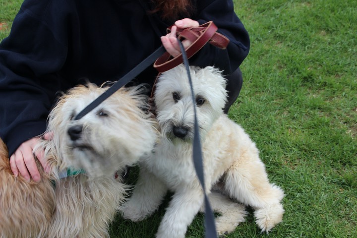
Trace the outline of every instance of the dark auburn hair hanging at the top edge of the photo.
<path fill-rule="evenodd" d="M 179 17 L 189 17 L 194 7 L 191 0 L 152 0 L 155 8 L 153 12 L 158 12 L 164 19 L 177 19 Z"/>

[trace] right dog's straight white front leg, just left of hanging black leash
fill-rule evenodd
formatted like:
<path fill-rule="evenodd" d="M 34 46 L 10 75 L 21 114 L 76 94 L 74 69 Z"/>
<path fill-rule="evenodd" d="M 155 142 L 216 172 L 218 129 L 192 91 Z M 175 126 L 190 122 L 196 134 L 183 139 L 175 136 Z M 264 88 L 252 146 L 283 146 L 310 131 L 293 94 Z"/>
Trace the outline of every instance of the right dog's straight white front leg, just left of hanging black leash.
<path fill-rule="evenodd" d="M 160 223 L 156 238 L 184 238 L 187 226 L 198 213 L 203 203 L 201 189 L 185 186 L 175 192 L 163 220 Z"/>

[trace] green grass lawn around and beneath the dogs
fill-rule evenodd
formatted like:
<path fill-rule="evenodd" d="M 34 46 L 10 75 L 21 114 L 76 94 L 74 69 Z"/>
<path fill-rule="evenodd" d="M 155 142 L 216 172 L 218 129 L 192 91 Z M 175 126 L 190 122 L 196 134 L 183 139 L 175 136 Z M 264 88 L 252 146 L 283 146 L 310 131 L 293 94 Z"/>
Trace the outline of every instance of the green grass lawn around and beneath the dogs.
<path fill-rule="evenodd" d="M 0 21 L 10 25 L 20 3 L 0 0 Z M 229 116 L 285 190 L 286 213 L 267 235 L 250 211 L 228 238 L 357 237 L 356 6 L 357 0 L 235 0 L 251 51 Z M 112 237 L 154 237 L 166 205 L 140 223 L 118 216 Z M 203 237 L 202 218 L 187 237 Z"/>

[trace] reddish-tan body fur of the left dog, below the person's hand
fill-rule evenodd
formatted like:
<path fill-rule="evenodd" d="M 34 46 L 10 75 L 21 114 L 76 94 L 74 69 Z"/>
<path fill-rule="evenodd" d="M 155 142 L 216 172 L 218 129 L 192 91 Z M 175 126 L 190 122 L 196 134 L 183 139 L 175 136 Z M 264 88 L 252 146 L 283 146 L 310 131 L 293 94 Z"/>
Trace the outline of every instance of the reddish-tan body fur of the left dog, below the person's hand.
<path fill-rule="evenodd" d="M 46 237 L 55 210 L 55 190 L 48 176 L 41 182 L 14 177 L 7 148 L 0 139 L 0 237 Z M 41 224 L 41 225 L 40 225 Z"/>

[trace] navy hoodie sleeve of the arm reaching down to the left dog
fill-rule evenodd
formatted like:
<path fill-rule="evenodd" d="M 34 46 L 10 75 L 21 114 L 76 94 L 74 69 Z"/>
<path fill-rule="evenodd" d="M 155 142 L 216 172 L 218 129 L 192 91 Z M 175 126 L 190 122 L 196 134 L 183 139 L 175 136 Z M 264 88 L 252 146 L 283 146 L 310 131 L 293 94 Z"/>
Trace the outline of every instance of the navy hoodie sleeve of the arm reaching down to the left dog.
<path fill-rule="evenodd" d="M 60 77 L 53 72 L 65 62 L 67 47 L 61 39 L 67 30 L 65 24 L 52 27 L 65 21 L 52 12 L 51 2 L 25 0 L 0 44 L 0 137 L 9 155 L 45 131 L 60 89 Z"/>

